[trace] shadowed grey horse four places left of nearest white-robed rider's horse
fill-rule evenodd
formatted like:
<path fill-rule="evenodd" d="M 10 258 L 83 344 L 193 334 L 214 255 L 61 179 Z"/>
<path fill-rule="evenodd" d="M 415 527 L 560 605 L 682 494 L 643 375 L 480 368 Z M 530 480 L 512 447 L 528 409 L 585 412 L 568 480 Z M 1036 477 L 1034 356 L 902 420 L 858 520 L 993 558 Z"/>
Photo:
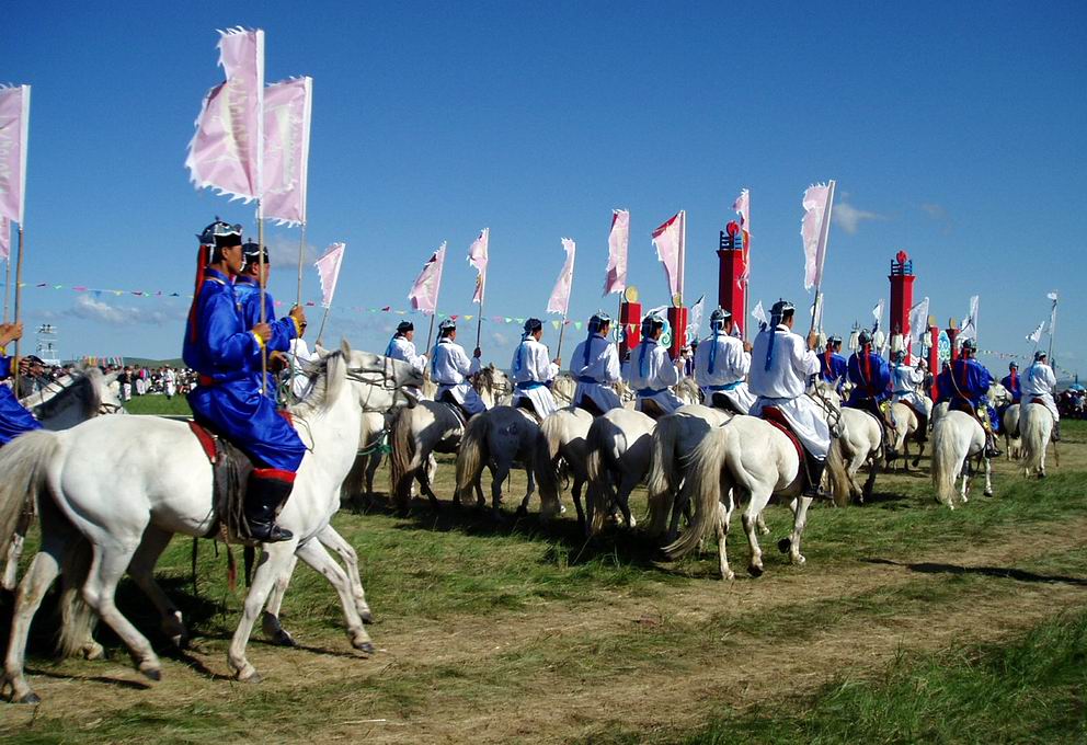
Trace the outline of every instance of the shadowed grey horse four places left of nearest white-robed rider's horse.
<path fill-rule="evenodd" d="M 499 517 L 502 484 L 510 478 L 515 462 L 520 463 L 528 474 L 528 489 L 517 514 L 527 514 L 528 500 L 536 491 L 538 481 L 540 513 L 545 518 L 558 515 L 558 480 L 551 468 L 547 437 L 531 414 L 514 406 L 488 409 L 469 420 L 457 454 L 457 493 L 454 503 L 467 503 L 474 490 L 477 506 L 483 507 L 487 504 L 480 486 L 480 475 L 485 467 L 491 471 L 491 509 Z"/>

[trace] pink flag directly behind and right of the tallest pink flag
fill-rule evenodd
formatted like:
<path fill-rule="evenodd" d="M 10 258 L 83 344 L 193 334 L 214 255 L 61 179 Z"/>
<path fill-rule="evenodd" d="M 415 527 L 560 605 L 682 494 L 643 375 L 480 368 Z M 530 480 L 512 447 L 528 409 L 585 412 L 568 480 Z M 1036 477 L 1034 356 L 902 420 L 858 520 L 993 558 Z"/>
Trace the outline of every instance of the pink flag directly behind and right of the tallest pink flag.
<path fill-rule="evenodd" d="M 309 125 L 313 79 L 295 78 L 264 90 L 265 217 L 279 225 L 306 221 L 306 177 L 309 171 Z"/>

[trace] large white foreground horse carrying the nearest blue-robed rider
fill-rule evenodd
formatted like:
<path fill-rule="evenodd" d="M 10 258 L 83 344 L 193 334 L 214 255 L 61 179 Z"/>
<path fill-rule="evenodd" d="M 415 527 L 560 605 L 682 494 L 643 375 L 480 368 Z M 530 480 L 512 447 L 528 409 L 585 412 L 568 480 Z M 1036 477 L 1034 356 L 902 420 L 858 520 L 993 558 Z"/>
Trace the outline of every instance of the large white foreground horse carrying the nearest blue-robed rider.
<path fill-rule="evenodd" d="M 341 352 L 320 362 L 313 392 L 291 409 L 307 454 L 277 519 L 294 538 L 262 547 L 228 653 L 228 664 L 241 680 L 259 679 L 245 658 L 245 645 L 268 592 L 296 554 L 336 588 L 352 644 L 367 652 L 374 649 L 351 580 L 320 541 L 340 505 L 340 484 L 354 460 L 363 409 L 398 393 L 373 381 L 365 364 L 373 357 L 353 355 L 344 343 Z M 422 383 L 403 363 L 381 359 L 385 375 L 391 370 L 397 386 Z M 123 443 L 139 447 L 117 447 Z M 99 417 L 61 433 L 30 433 L 0 451 L 0 471 L 7 477 L 0 485 L 0 541 L 10 537 L 26 498 L 36 500 L 42 516 L 42 549 L 20 583 L 4 661 L 3 683 L 12 687 L 12 700 L 37 700 L 23 673 L 26 635 L 61 568 L 67 591 L 61 649 L 101 654 L 91 638 L 93 611 L 125 642 L 138 669 L 159 679 L 158 656 L 117 609 L 114 595 L 127 570 L 163 619 L 181 623 L 180 612 L 155 582 L 155 563 L 173 534 L 207 535 L 217 522 L 211 466 L 187 425 L 165 419 Z"/>

